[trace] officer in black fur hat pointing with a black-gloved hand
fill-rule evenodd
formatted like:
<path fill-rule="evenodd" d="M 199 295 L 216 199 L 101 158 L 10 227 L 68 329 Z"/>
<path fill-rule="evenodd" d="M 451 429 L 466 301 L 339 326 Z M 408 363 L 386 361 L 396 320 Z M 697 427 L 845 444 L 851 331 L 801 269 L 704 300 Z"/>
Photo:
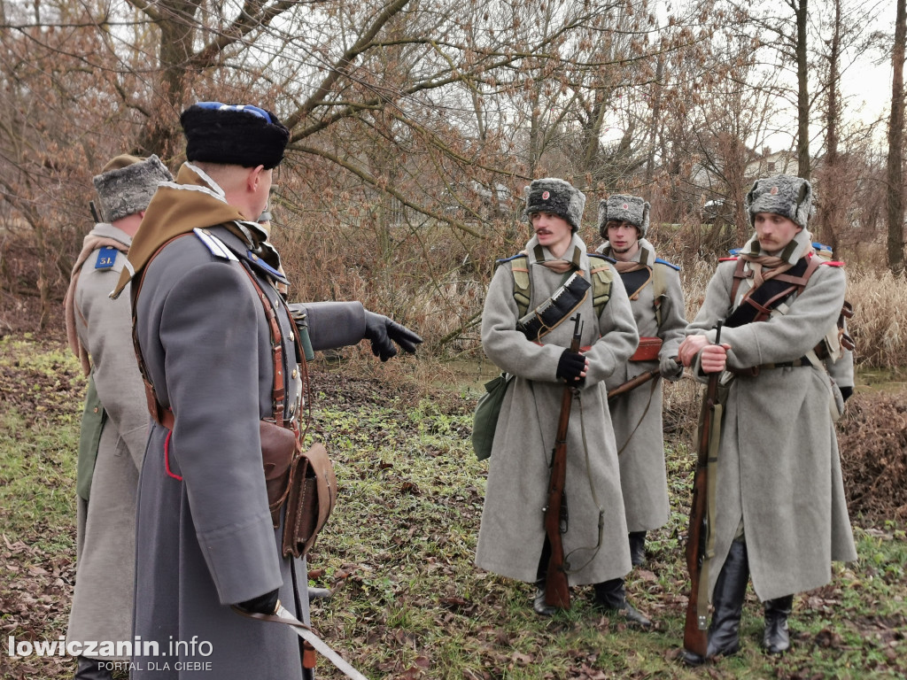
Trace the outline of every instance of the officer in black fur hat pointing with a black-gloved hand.
<path fill-rule="evenodd" d="M 306 560 L 284 557 L 288 503 L 269 506 L 261 436 L 281 424 L 297 431 L 306 373 L 276 287 L 286 282 L 278 253 L 252 221 L 289 134 L 273 113 L 249 105 L 200 102 L 180 123 L 188 160 L 151 200 L 129 253 L 153 397 L 136 526 L 141 644 L 132 678 L 308 677 L 292 628 L 231 607 L 268 615 L 279 599 L 308 620 Z M 124 273 L 115 294 L 130 278 Z M 358 303 L 307 305 L 305 313 L 315 348 L 367 337 L 385 359 L 395 353 L 388 338 L 410 352 L 421 342 Z"/>

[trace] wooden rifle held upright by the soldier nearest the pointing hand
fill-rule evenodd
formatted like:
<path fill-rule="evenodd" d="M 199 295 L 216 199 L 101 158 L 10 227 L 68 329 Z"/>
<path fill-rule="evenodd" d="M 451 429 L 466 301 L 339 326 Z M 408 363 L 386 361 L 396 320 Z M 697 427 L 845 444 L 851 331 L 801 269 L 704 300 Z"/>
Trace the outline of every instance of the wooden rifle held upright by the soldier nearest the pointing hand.
<path fill-rule="evenodd" d="M 580 353 L 582 326 L 580 315 L 571 317 L 573 322 L 573 339 L 570 351 Z M 545 604 L 561 609 L 570 608 L 570 584 L 567 581 L 567 563 L 564 558 L 562 534 L 567 530 L 567 498 L 564 484 L 567 480 L 567 430 L 570 426 L 570 412 L 573 395 L 579 388 L 573 385 L 564 387 L 561 397 L 561 417 L 558 419 L 558 432 L 554 440 L 554 451 L 551 454 L 551 477 L 548 479 L 548 504 L 545 506 L 545 535 L 551 544 L 551 559 L 548 560 L 548 572 L 545 575 Z"/>

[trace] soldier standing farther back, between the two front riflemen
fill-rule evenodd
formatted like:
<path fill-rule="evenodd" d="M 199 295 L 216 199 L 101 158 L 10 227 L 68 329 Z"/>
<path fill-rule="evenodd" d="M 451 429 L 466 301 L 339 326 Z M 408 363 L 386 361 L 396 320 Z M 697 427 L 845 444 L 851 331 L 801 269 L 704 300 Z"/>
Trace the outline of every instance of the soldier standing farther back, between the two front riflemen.
<path fill-rule="evenodd" d="M 613 194 L 599 203 L 599 233 L 605 242 L 597 248 L 617 260 L 627 288 L 633 318 L 639 330 L 639 348 L 629 361 L 610 375 L 609 390 L 638 375 L 658 369 L 650 384 L 610 400 L 611 424 L 618 445 L 620 487 L 629 529 L 630 561 L 646 559 L 646 532 L 668 521 L 668 475 L 661 424 L 661 381 L 676 381 L 683 374 L 678 347 L 687 331 L 683 290 L 676 265 L 655 255 L 646 239 L 649 202 L 627 194 Z"/>

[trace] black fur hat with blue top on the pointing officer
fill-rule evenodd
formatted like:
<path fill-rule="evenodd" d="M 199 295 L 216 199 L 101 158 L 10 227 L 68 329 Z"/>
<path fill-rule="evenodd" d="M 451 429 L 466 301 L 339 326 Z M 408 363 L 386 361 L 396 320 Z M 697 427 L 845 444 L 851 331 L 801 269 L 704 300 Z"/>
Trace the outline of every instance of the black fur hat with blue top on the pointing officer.
<path fill-rule="evenodd" d="M 180 115 L 186 158 L 270 170 L 283 160 L 287 127 L 267 109 L 250 104 L 198 102 Z"/>

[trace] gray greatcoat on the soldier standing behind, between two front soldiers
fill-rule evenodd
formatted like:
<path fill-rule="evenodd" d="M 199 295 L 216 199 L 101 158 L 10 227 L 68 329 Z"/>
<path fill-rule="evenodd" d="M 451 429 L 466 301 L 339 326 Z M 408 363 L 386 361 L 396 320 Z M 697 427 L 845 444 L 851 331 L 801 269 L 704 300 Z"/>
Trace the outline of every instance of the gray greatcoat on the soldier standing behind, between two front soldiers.
<path fill-rule="evenodd" d="M 599 250 L 602 251 L 607 246 L 606 243 Z M 655 248 L 649 241 L 640 239 L 639 248 L 633 259 L 639 262 L 643 250 L 649 254 L 647 261 L 654 263 L 652 267 L 658 267 L 664 275 L 665 292 L 661 301 L 660 326 L 655 316 L 651 280 L 638 291 L 637 299 L 630 299 L 637 330 L 641 337 L 661 338 L 659 360 L 676 357 L 678 347 L 687 335 L 687 318 L 678 270 L 655 262 Z M 658 361 L 625 362 L 610 375 L 605 385 L 611 390 L 637 375 L 657 369 L 658 364 Z M 682 370 L 678 368 L 670 377 L 676 380 L 680 374 Z M 658 529 L 668 521 L 670 512 L 661 423 L 660 378 L 615 397 L 610 403 L 610 413 L 619 451 L 620 486 L 623 489 L 624 511 L 627 513 L 627 529 Z"/>

